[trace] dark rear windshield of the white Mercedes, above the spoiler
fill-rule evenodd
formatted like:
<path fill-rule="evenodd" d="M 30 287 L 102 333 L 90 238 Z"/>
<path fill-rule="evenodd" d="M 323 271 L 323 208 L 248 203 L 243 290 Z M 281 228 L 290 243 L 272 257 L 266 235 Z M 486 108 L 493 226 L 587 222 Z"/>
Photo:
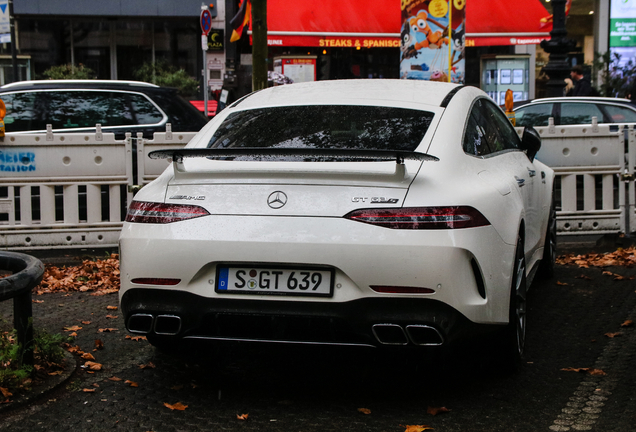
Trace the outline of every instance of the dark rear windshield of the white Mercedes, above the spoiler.
<path fill-rule="evenodd" d="M 434 114 L 405 108 L 313 105 L 229 115 L 208 147 L 414 151 Z"/>

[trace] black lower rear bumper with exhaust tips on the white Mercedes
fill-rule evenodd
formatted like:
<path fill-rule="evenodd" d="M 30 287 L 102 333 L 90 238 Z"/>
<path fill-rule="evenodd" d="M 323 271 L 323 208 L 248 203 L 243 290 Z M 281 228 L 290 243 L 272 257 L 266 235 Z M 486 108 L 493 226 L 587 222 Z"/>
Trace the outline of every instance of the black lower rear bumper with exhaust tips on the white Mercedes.
<path fill-rule="evenodd" d="M 437 346 L 498 327 L 475 324 L 433 299 L 263 302 L 131 289 L 123 295 L 121 305 L 129 331 L 175 341 Z"/>

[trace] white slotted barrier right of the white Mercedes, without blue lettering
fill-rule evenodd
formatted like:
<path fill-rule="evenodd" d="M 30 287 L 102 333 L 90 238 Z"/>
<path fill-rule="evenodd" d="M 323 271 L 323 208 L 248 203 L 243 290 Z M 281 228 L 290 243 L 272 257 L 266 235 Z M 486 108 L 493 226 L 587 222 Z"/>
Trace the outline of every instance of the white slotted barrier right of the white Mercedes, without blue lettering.
<path fill-rule="evenodd" d="M 552 119 L 550 119 L 552 120 Z M 634 224 L 636 125 L 554 126 L 541 135 L 537 159 L 556 174 L 561 235 L 630 233 Z"/>

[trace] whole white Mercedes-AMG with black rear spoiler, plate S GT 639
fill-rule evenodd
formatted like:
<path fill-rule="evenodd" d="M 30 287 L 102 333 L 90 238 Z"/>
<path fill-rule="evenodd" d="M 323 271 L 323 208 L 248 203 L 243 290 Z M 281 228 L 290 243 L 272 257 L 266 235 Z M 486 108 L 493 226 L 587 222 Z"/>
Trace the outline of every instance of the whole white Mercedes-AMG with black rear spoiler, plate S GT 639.
<path fill-rule="evenodd" d="M 521 137 L 520 137 L 521 136 Z M 519 359 L 553 271 L 553 171 L 475 87 L 342 80 L 254 92 L 135 196 L 127 329 L 184 340 L 437 346 Z"/>

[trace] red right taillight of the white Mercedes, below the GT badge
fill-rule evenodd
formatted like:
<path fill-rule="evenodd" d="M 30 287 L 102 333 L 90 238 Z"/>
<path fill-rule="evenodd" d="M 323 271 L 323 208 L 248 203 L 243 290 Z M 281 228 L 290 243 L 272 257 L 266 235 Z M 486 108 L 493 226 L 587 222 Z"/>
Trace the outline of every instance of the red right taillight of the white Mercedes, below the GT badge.
<path fill-rule="evenodd" d="M 457 229 L 490 225 L 469 206 L 403 207 L 354 210 L 345 218 L 392 229 Z"/>

